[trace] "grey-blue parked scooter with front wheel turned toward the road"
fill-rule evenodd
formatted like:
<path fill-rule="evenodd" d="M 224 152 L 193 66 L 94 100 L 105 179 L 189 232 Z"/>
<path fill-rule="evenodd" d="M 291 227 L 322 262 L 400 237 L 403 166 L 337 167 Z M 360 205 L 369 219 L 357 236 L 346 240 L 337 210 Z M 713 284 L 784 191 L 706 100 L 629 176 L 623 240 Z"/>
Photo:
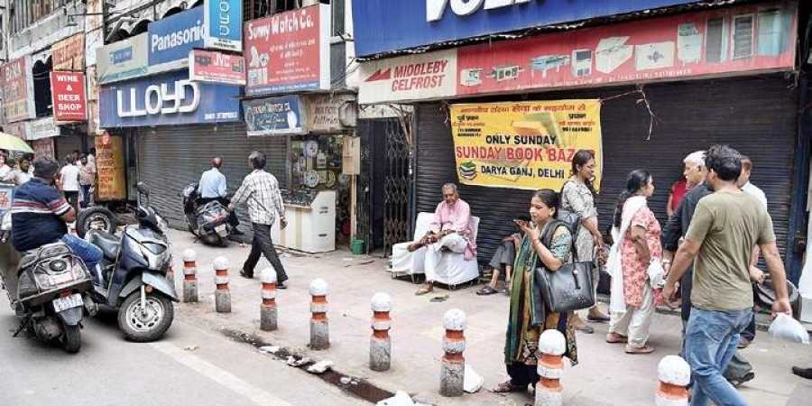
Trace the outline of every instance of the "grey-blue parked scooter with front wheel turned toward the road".
<path fill-rule="evenodd" d="M 104 253 L 93 300 L 118 311 L 118 327 L 128 340 L 149 342 L 171 327 L 172 302 L 180 300 L 166 277 L 171 266 L 168 226 L 150 207 L 149 189 L 142 182 L 137 189 L 137 225 L 126 226 L 119 236 L 91 229 L 85 239 Z"/>

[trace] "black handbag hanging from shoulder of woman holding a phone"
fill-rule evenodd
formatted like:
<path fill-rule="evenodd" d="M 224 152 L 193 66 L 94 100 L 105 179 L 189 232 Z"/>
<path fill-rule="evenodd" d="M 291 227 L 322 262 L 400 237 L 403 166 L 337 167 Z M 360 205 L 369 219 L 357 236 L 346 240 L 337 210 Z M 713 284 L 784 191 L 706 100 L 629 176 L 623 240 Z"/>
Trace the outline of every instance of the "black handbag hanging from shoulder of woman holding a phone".
<path fill-rule="evenodd" d="M 549 247 L 552 236 L 558 226 L 567 226 L 564 222 L 553 220 L 546 227 L 541 242 Z M 575 236 L 573 235 L 572 258 L 577 258 Z M 540 260 L 539 260 L 540 261 Z M 547 309 L 560 313 L 595 306 L 595 289 L 592 286 L 592 274 L 595 272 L 593 262 L 565 263 L 556 272 L 549 272 L 545 266 L 535 270 L 536 288 L 541 291 Z"/>

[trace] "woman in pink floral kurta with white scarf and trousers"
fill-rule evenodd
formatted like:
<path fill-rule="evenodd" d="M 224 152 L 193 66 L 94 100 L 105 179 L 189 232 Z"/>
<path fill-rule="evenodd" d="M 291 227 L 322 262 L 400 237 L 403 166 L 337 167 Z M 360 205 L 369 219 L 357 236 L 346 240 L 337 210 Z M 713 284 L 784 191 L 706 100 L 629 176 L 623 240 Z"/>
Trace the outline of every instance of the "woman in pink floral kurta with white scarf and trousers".
<path fill-rule="evenodd" d="M 617 243 L 612 247 L 607 264 L 612 274 L 612 294 L 606 342 L 626 344 L 629 354 L 654 351 L 646 341 L 661 290 L 655 290 L 652 284 L 659 287 L 663 275 L 660 223 L 646 203 L 653 193 L 651 174 L 632 171 L 614 209 L 612 234 Z"/>

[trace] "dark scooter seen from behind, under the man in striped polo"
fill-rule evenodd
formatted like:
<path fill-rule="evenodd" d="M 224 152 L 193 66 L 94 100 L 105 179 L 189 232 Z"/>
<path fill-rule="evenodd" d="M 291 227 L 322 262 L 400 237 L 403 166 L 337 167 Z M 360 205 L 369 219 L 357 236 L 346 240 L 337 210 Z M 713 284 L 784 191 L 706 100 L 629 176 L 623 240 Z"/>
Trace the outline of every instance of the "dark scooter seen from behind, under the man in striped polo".
<path fill-rule="evenodd" d="M 85 263 L 61 242 L 18 253 L 9 242 L 11 226 L 11 213 L 6 213 L 0 224 L 0 284 L 22 320 L 14 337 L 25 330 L 78 353 L 84 310 L 91 316 L 97 311 Z"/>

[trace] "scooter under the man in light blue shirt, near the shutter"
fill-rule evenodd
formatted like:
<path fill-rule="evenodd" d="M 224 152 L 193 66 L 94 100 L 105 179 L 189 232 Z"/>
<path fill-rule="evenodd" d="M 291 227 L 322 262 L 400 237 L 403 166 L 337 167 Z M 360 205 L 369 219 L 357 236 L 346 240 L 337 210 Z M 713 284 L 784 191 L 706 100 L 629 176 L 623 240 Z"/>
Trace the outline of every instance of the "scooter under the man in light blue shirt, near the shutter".
<path fill-rule="evenodd" d="M 228 210 L 217 200 L 198 204 L 198 184 L 190 183 L 180 192 L 183 215 L 189 233 L 198 237 L 206 245 L 228 245 L 231 226 L 228 226 Z"/>

